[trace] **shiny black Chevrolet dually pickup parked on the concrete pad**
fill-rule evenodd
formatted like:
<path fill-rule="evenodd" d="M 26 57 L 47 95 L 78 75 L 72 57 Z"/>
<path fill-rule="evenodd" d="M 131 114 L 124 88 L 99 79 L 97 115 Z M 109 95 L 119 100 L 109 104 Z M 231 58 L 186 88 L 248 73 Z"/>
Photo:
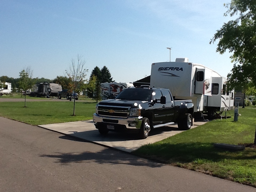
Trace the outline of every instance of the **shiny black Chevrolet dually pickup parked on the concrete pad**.
<path fill-rule="evenodd" d="M 115 99 L 101 101 L 93 114 L 101 134 L 109 131 L 135 131 L 141 139 L 150 129 L 178 123 L 181 130 L 193 125 L 192 100 L 175 100 L 169 89 L 130 87 Z"/>

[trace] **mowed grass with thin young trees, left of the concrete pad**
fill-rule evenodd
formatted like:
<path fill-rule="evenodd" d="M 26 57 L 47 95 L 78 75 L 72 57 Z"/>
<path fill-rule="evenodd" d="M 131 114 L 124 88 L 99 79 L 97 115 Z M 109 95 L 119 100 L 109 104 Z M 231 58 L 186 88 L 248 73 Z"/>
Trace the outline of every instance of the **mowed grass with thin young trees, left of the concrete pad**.
<path fill-rule="evenodd" d="M 73 114 L 74 102 L 0 102 L 0 116 L 30 125 L 43 125 L 93 119 L 96 102 L 75 103 L 75 116 Z"/>

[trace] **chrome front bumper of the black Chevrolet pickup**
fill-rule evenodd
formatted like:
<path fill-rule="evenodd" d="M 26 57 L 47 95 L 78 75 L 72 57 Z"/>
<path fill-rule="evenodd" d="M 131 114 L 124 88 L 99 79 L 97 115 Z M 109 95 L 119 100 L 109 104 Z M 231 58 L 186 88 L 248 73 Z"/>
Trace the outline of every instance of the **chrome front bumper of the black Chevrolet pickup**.
<path fill-rule="evenodd" d="M 111 122 L 111 120 L 115 122 Z M 106 124 L 112 124 L 112 125 L 114 124 L 125 125 L 127 129 L 140 129 L 142 119 L 139 119 L 138 117 L 129 117 L 129 118 L 105 117 L 105 116 L 99 116 L 98 114 L 94 113 L 93 122 L 94 122 L 94 125 L 97 123 L 106 123 Z M 135 126 L 131 126 L 131 125 L 135 125 Z"/>

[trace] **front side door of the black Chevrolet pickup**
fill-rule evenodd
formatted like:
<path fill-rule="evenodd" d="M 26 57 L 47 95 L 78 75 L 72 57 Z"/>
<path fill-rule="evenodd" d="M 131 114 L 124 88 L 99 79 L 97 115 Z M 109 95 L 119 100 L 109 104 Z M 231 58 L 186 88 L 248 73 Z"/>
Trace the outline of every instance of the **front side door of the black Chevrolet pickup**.
<path fill-rule="evenodd" d="M 162 93 L 160 90 L 156 90 L 155 91 L 155 95 L 153 97 L 153 101 L 155 99 L 159 99 L 158 102 L 160 102 L 160 98 L 162 96 Z M 166 121 L 166 115 L 165 112 L 163 111 L 163 107 L 165 106 L 165 104 L 161 104 L 161 103 L 154 103 L 153 105 L 153 113 L 154 113 L 154 124 L 161 124 L 163 122 Z"/>

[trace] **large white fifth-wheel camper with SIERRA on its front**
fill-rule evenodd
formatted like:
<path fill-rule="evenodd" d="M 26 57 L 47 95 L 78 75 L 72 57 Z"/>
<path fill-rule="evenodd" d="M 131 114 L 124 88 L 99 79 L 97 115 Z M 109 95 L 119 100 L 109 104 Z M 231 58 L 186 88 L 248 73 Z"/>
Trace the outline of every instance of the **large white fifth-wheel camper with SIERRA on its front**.
<path fill-rule="evenodd" d="M 194 112 L 214 115 L 234 107 L 234 90 L 227 91 L 226 78 L 188 58 L 152 63 L 150 86 L 170 89 L 175 99 L 192 99 Z"/>

